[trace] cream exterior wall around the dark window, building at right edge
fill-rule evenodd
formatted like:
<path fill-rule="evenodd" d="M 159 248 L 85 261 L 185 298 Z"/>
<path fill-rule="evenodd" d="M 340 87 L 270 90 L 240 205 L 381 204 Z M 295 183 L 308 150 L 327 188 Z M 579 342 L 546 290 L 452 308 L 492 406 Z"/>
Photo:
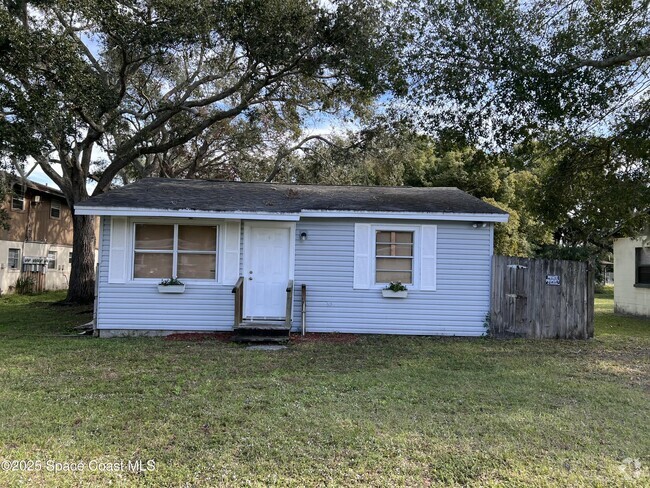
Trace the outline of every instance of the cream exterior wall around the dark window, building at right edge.
<path fill-rule="evenodd" d="M 636 287 L 636 248 L 641 239 L 614 241 L 614 309 L 617 313 L 650 318 L 650 288 Z"/>

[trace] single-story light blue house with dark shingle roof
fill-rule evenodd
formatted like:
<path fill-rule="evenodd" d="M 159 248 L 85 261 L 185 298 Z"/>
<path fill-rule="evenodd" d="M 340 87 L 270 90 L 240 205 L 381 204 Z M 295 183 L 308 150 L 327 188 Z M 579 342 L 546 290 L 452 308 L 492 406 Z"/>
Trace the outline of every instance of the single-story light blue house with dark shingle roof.
<path fill-rule="evenodd" d="M 229 331 L 479 336 L 495 222 L 457 188 L 148 178 L 76 207 L 101 216 L 100 336 Z M 177 277 L 175 291 L 159 287 Z M 388 283 L 406 297 L 384 297 Z"/>

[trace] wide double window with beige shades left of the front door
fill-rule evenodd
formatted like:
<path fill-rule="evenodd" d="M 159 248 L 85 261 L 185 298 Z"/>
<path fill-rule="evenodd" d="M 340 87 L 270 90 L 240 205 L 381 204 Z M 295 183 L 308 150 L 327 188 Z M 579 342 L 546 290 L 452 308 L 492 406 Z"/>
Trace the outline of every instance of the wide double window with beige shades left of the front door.
<path fill-rule="evenodd" d="M 133 277 L 215 280 L 217 227 L 135 224 Z"/>

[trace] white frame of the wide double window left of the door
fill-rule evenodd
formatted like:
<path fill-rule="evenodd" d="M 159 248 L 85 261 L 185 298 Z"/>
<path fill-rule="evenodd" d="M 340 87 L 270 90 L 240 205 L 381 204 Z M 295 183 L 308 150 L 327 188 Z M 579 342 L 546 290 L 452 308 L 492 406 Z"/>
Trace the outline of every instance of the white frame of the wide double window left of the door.
<path fill-rule="evenodd" d="M 129 232 L 130 236 L 128 238 L 129 242 L 129 260 L 128 260 L 128 270 L 127 270 L 127 276 L 129 276 L 129 280 L 133 283 L 160 283 L 161 280 L 164 280 L 165 278 L 136 278 L 135 275 L 135 226 L 138 224 L 149 224 L 149 225 L 172 225 L 174 226 L 174 243 L 173 243 L 173 249 L 171 251 L 172 253 L 172 274 L 173 270 L 177 269 L 178 265 L 178 226 L 179 225 L 187 225 L 187 226 L 197 226 L 197 227 L 216 227 L 216 232 L 217 232 L 217 248 L 215 250 L 215 276 L 214 278 L 205 278 L 205 279 L 199 279 L 199 278 L 178 278 L 181 280 L 183 283 L 199 283 L 199 284 L 220 284 L 222 281 L 222 275 L 223 275 L 223 225 L 222 222 L 213 222 L 213 221 L 204 221 L 204 222 L 199 222 L 199 221 L 193 221 L 193 220 L 164 220 L 160 221 L 160 219 L 137 219 L 137 220 L 132 220 L 130 225 L 129 225 Z M 156 251 L 154 249 L 150 250 L 150 252 L 161 252 L 161 251 Z M 167 251 L 170 252 L 170 251 Z M 206 252 L 201 252 L 201 251 L 182 251 L 186 252 L 187 254 L 208 254 Z M 171 278 L 171 277 L 166 277 L 166 278 Z"/>

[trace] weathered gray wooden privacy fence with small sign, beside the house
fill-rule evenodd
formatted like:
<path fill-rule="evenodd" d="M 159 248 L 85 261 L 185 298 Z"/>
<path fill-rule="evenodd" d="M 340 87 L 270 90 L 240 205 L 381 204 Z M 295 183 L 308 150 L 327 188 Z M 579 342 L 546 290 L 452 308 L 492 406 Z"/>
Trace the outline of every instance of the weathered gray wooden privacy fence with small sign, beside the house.
<path fill-rule="evenodd" d="M 578 261 L 494 256 L 490 310 L 497 337 L 593 337 L 593 269 Z"/>

